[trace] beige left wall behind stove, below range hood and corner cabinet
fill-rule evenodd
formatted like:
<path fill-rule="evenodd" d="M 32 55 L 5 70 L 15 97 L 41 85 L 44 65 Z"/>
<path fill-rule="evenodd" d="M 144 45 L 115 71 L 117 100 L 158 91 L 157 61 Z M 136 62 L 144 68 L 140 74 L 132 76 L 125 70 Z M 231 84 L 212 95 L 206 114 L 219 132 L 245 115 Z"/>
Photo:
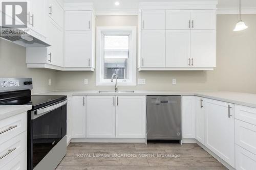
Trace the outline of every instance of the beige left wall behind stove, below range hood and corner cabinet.
<path fill-rule="evenodd" d="M 56 71 L 27 68 L 26 48 L 3 39 L 0 39 L 0 78 L 32 78 L 32 93 L 52 91 L 56 86 Z"/>

